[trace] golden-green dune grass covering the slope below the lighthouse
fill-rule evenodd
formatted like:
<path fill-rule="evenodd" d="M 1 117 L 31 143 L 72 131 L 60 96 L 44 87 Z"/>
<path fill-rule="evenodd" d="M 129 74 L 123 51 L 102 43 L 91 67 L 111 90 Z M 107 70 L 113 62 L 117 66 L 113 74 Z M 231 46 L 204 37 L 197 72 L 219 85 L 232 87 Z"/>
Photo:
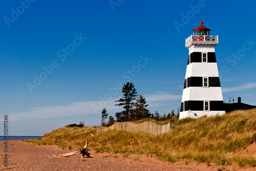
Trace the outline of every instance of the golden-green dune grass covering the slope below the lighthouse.
<path fill-rule="evenodd" d="M 153 121 L 161 125 L 170 122 L 172 130 L 158 135 L 111 130 L 93 137 L 90 135 L 96 134 L 96 128 L 93 127 L 62 127 L 42 138 L 26 141 L 75 149 L 83 146 L 88 139 L 90 149 L 97 152 L 147 154 L 169 163 L 186 159 L 186 163 L 196 160 L 207 165 L 256 165 L 253 154 L 248 154 L 248 150 L 242 153 L 248 145 L 256 142 L 256 109 L 237 110 L 222 116 L 197 119 L 143 119 L 136 123 L 143 121 Z"/>

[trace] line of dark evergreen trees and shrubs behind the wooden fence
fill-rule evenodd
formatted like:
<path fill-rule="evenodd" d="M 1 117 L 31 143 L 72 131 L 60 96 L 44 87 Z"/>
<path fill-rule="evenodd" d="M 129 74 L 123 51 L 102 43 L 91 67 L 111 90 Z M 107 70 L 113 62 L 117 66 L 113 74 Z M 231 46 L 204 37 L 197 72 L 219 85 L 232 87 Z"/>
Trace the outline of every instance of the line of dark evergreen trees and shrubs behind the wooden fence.
<path fill-rule="evenodd" d="M 116 119 L 113 116 L 109 116 L 106 108 L 104 108 L 101 113 L 101 126 L 111 126 L 115 122 L 121 121 L 135 121 L 143 118 L 155 118 L 157 120 L 165 120 L 172 117 L 179 117 L 179 108 L 177 114 L 174 113 L 174 110 L 168 114 L 160 115 L 157 111 L 155 113 L 151 113 L 146 107 L 146 100 L 143 95 L 138 95 L 137 90 L 134 88 L 132 82 L 127 82 L 122 87 L 123 97 L 116 101 L 118 104 L 115 106 L 121 106 L 124 110 L 121 112 L 117 112 L 115 114 Z"/>

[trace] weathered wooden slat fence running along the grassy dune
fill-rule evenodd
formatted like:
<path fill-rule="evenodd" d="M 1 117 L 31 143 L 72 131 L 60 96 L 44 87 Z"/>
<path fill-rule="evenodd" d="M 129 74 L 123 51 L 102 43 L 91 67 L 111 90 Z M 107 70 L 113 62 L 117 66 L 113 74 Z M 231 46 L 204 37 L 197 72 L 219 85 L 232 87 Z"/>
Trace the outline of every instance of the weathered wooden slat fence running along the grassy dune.
<path fill-rule="evenodd" d="M 144 121 L 144 123 L 141 124 L 134 124 L 129 121 L 125 121 L 122 123 L 115 123 L 110 127 L 105 128 L 97 128 L 96 134 L 99 134 L 102 131 L 108 131 L 108 130 L 126 130 L 126 131 L 142 131 L 146 133 L 152 133 L 152 134 L 160 134 L 165 133 L 170 130 L 170 123 L 166 125 L 157 125 L 155 123 L 152 123 L 150 121 Z"/>

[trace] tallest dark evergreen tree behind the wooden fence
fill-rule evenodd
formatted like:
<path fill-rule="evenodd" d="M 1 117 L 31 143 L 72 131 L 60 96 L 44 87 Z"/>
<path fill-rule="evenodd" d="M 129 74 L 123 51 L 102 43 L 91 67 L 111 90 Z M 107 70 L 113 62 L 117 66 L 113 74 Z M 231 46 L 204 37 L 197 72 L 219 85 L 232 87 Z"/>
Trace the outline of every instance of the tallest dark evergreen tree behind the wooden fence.
<path fill-rule="evenodd" d="M 133 83 L 127 82 L 122 87 L 122 93 L 123 97 L 116 101 L 120 103 L 116 104 L 115 106 L 122 106 L 124 111 L 116 113 L 116 116 L 118 116 L 117 120 L 120 119 L 121 121 L 127 121 L 129 120 L 132 108 L 135 105 L 134 100 L 136 100 L 137 92 Z"/>

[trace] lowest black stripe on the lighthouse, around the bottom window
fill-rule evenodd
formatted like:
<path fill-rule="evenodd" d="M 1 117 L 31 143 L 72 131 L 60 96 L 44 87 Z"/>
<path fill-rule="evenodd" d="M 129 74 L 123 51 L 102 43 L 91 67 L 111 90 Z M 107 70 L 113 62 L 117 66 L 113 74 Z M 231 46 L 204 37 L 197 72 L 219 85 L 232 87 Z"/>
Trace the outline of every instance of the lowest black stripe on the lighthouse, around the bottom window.
<path fill-rule="evenodd" d="M 204 101 L 185 101 L 185 111 L 204 111 Z M 181 102 L 180 111 L 183 111 L 183 103 Z M 210 111 L 223 111 L 223 101 L 210 101 Z"/>

